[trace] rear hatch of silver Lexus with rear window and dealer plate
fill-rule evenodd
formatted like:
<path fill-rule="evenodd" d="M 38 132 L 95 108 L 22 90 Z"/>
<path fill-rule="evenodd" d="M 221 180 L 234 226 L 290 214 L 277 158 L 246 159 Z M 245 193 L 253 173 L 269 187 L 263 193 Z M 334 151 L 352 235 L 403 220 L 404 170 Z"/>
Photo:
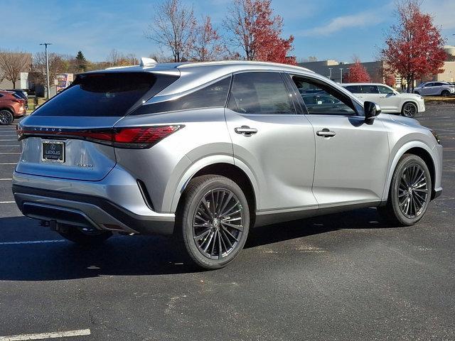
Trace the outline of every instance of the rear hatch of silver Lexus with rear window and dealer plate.
<path fill-rule="evenodd" d="M 18 125 L 23 151 L 16 172 L 102 180 L 116 164 L 119 119 L 178 78 L 152 72 L 88 72 Z"/>

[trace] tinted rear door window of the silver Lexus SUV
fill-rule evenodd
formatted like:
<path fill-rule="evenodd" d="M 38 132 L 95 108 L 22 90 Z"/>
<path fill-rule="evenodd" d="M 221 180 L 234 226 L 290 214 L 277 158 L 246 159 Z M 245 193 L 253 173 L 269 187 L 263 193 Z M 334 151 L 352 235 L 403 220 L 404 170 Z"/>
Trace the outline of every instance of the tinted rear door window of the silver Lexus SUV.
<path fill-rule="evenodd" d="M 228 107 L 240 114 L 295 114 L 289 91 L 277 72 L 234 75 Z"/>

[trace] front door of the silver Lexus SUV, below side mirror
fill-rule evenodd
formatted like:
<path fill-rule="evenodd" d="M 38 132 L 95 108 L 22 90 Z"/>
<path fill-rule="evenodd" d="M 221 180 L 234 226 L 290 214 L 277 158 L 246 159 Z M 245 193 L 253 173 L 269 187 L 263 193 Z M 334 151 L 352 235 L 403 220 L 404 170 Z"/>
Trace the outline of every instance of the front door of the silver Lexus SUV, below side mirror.
<path fill-rule="evenodd" d="M 306 115 L 316 139 L 313 193 L 319 207 L 379 202 L 389 158 L 380 117 L 365 124 L 363 108 L 348 94 L 316 77 L 290 77 L 298 88 L 319 87 L 340 103 L 331 109 L 308 107 Z"/>

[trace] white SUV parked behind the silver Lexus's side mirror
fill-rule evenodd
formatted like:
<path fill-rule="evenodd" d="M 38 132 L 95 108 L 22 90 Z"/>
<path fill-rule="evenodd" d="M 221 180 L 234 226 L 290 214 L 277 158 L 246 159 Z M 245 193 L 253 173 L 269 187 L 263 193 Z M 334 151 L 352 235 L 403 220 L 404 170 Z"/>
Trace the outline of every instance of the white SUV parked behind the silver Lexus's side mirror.
<path fill-rule="evenodd" d="M 362 101 L 380 104 L 382 112 L 402 114 L 405 117 L 425 112 L 425 102 L 419 94 L 400 94 L 388 85 L 378 83 L 346 83 L 342 86 Z"/>

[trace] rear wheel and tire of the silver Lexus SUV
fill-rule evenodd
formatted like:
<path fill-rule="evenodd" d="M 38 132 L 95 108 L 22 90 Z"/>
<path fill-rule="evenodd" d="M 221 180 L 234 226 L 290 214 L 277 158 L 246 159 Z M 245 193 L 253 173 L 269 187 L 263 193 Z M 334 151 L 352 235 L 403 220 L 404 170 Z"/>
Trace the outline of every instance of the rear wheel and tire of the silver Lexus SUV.
<path fill-rule="evenodd" d="M 224 176 L 202 175 L 182 194 L 174 237 L 186 259 L 220 269 L 243 249 L 249 227 L 250 209 L 240 187 Z"/>

